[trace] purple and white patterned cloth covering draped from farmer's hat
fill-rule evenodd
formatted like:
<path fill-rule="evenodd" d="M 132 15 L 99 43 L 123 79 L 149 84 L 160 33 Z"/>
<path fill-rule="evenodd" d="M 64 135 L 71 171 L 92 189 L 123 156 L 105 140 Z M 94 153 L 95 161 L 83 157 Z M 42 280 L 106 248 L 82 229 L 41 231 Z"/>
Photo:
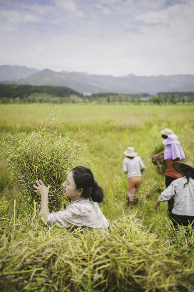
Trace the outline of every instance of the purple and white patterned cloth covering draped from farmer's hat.
<path fill-rule="evenodd" d="M 164 149 L 164 159 L 182 159 L 185 161 L 185 154 L 180 146 L 180 142 L 178 141 L 177 135 L 170 134 L 168 138 L 163 140 L 162 143 L 166 145 Z"/>

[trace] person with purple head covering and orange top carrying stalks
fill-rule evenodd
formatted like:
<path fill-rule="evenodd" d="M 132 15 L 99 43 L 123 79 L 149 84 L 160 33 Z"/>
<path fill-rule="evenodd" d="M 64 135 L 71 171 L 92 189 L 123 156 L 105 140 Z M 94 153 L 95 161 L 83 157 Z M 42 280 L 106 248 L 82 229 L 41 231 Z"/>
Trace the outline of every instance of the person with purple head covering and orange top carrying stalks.
<path fill-rule="evenodd" d="M 165 184 L 166 184 L 166 187 L 168 187 L 173 180 L 176 180 L 177 178 L 181 178 L 181 174 L 178 173 L 173 168 L 172 163 L 175 161 L 179 161 L 179 162 L 184 161 L 185 154 L 182 147 L 180 146 L 180 142 L 178 141 L 177 135 L 175 135 L 175 133 L 173 133 L 172 130 L 166 128 L 160 132 L 162 133 L 162 138 L 164 138 L 162 143 L 166 145 L 166 147 L 165 147 L 165 150 L 152 156 L 152 162 L 154 165 L 157 165 L 158 173 L 161 171 L 161 166 L 157 160 L 160 160 L 161 162 L 166 164 Z M 169 217 L 171 216 L 173 206 L 174 206 L 174 198 L 172 197 L 168 200 Z"/>

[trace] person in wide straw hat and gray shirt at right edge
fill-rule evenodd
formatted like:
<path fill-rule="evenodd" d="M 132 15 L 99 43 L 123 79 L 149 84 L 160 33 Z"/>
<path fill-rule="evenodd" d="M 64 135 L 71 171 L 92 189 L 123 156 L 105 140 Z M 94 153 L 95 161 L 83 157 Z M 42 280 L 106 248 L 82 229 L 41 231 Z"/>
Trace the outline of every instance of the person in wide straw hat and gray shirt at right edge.
<path fill-rule="evenodd" d="M 181 174 L 181 178 L 173 180 L 164 190 L 154 207 L 157 208 L 160 202 L 169 200 L 175 196 L 175 205 L 172 209 L 171 220 L 177 230 L 178 225 L 194 226 L 194 167 L 191 162 L 173 162 L 173 168 Z"/>

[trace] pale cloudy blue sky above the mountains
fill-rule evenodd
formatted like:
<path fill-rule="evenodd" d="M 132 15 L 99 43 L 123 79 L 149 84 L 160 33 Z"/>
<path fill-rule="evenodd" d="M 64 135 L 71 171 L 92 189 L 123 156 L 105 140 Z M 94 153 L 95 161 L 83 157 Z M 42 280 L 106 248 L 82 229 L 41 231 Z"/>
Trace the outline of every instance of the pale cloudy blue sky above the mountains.
<path fill-rule="evenodd" d="M 194 75 L 194 0 L 0 0 L 0 65 Z"/>

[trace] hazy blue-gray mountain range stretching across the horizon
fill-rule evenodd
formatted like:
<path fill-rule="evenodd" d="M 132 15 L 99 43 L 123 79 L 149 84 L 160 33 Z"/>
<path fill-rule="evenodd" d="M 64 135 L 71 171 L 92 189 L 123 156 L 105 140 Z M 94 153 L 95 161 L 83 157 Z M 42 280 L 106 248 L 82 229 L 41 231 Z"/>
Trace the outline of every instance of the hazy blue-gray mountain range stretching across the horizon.
<path fill-rule="evenodd" d="M 95 75 L 83 72 L 54 72 L 49 69 L 38 70 L 25 66 L 0 66 L 0 83 L 17 85 L 67 86 L 80 93 L 149 93 L 194 91 L 194 75 L 159 75 L 123 77 Z"/>

